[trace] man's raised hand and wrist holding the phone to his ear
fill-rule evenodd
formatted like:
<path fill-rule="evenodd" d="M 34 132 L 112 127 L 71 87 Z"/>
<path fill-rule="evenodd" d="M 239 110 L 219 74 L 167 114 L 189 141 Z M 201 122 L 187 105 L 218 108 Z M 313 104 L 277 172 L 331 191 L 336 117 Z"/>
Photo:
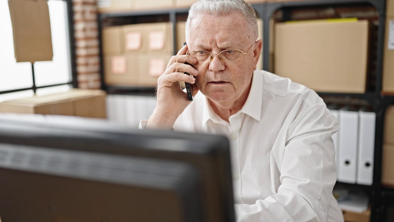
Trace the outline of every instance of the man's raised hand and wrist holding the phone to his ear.
<path fill-rule="evenodd" d="M 198 75 L 198 71 L 192 66 L 184 64 L 188 62 L 195 64 L 197 60 L 189 60 L 186 56 L 188 46 L 180 49 L 176 56 L 172 56 L 166 70 L 158 79 L 156 107 L 149 117 L 146 128 L 171 129 L 178 116 L 191 103 L 186 92 L 179 85 L 180 81 L 193 83 L 193 76 Z M 184 72 L 190 75 L 184 74 Z M 191 84 L 193 96 L 198 92 L 195 84 Z"/>

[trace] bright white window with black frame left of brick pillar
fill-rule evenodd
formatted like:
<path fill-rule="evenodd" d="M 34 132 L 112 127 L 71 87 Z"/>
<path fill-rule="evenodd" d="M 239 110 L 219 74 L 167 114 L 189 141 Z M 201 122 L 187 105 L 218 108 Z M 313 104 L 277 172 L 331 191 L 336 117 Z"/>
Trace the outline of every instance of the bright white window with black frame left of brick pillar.
<path fill-rule="evenodd" d="M 73 27 L 69 26 L 67 4 L 71 1 L 48 0 L 53 58 L 32 65 L 15 60 L 8 2 L 0 0 L 0 102 L 29 97 L 34 92 L 37 95 L 64 92 L 72 87 L 69 31 Z"/>

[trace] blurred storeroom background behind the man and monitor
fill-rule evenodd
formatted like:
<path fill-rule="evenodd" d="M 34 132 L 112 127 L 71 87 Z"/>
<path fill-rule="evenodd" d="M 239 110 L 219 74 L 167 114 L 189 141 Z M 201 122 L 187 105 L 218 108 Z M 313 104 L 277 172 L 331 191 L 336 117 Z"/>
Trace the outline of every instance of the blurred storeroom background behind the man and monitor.
<path fill-rule="evenodd" d="M 138 128 L 195 0 L 0 0 L 0 112 Z M 258 68 L 314 89 L 338 118 L 347 222 L 394 221 L 394 0 L 249 0 Z"/>

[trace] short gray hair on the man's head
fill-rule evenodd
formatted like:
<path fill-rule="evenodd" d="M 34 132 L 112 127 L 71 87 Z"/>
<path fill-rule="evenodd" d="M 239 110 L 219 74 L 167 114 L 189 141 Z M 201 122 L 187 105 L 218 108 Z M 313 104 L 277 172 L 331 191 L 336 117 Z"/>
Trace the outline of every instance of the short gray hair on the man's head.
<path fill-rule="evenodd" d="M 245 18 L 246 30 L 254 40 L 258 38 L 258 26 L 256 11 L 251 4 L 244 0 L 200 0 L 195 2 L 189 10 L 186 21 L 186 36 L 190 32 L 190 21 L 198 15 L 230 15 L 242 13 Z"/>

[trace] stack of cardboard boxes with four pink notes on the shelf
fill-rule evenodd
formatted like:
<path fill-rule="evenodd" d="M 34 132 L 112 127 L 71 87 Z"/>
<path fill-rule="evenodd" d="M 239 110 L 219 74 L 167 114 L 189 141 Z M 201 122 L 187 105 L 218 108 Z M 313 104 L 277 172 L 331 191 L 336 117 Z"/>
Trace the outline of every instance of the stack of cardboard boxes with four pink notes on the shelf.
<path fill-rule="evenodd" d="M 172 30 L 168 22 L 103 28 L 106 84 L 155 86 L 173 55 Z"/>

